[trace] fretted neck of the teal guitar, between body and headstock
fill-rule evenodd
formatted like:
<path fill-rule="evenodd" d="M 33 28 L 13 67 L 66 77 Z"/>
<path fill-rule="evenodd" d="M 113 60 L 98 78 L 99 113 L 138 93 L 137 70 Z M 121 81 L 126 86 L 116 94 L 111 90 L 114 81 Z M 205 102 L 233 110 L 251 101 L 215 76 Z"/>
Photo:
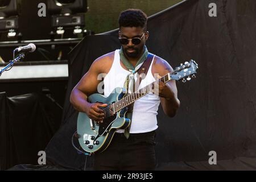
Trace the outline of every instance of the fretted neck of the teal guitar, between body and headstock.
<path fill-rule="evenodd" d="M 144 88 L 137 90 L 134 93 L 128 94 L 126 97 L 122 98 L 121 100 L 119 100 L 118 102 L 115 102 L 113 104 L 113 108 L 114 108 L 114 113 L 116 113 L 117 111 L 122 110 L 123 108 L 133 104 L 135 101 L 137 101 L 139 98 L 146 96 L 146 94 L 152 92 L 154 90 L 154 86 L 156 83 L 158 83 L 159 81 L 162 81 L 164 83 L 168 82 L 172 80 L 171 79 L 171 75 L 170 73 L 168 73 L 167 75 L 161 77 L 158 81 L 152 82 L 150 85 L 145 86 Z"/>

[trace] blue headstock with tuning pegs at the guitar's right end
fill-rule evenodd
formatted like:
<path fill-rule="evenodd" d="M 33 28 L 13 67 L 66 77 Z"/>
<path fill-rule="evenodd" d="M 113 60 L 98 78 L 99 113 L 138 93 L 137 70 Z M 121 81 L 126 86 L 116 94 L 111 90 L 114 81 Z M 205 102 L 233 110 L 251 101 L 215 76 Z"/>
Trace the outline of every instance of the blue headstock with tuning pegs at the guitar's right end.
<path fill-rule="evenodd" d="M 183 82 L 190 81 L 191 78 L 196 78 L 196 71 L 198 69 L 198 64 L 194 60 L 180 64 L 179 67 L 176 67 L 174 72 L 171 73 L 172 80 L 181 80 Z"/>

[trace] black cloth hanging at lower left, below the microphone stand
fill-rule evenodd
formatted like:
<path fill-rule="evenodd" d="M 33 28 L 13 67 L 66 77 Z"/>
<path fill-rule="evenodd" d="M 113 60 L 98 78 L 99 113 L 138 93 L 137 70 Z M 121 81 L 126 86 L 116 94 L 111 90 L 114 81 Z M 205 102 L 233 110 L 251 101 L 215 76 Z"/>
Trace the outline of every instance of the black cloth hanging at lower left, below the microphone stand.
<path fill-rule="evenodd" d="M 15 97 L 0 93 L 1 170 L 16 164 L 38 164 L 38 152 L 44 151 L 56 130 L 42 98 L 36 93 Z"/>

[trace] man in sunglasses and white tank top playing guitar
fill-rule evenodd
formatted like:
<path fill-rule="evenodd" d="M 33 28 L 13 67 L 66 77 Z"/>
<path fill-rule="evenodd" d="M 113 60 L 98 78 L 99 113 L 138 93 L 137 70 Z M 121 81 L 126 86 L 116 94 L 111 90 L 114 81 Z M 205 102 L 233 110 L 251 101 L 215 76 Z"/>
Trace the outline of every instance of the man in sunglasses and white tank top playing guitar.
<path fill-rule="evenodd" d="M 138 69 L 150 55 L 145 43 L 149 37 L 147 15 L 141 10 L 129 9 L 119 16 L 120 50 L 99 57 L 89 71 L 81 78 L 71 93 L 70 101 L 76 110 L 86 113 L 90 119 L 104 122 L 105 103 L 90 103 L 87 98 L 98 93 L 101 80 L 98 75 L 105 73 L 104 95 L 117 87 L 125 87 L 125 82 L 137 78 Z M 108 43 L 106 43 L 108 46 Z M 159 45 L 160 46 L 160 45 Z M 155 75 L 164 76 L 173 71 L 170 64 L 153 55 L 146 77 L 140 87 L 156 81 Z M 129 79 L 130 76 L 133 79 Z M 128 81 L 128 82 L 129 82 Z M 133 81 L 134 84 L 134 81 Z M 131 84 L 127 84 L 129 93 Z M 159 82 L 158 93 L 150 93 L 134 102 L 131 125 L 128 135 L 125 130 L 117 130 L 108 148 L 94 156 L 95 170 L 154 170 L 155 169 L 155 130 L 158 128 L 156 115 L 159 104 L 168 117 L 174 117 L 179 109 L 175 80 Z"/>

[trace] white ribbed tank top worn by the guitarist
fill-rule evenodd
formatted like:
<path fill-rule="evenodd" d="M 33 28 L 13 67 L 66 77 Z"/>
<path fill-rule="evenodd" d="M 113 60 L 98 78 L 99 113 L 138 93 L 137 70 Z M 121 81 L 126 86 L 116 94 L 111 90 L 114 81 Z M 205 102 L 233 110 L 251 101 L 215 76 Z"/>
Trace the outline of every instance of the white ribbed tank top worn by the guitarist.
<path fill-rule="evenodd" d="M 155 56 L 154 56 L 155 58 Z M 147 76 L 141 81 L 138 89 L 143 88 L 156 81 L 152 75 L 152 64 L 148 69 Z M 117 87 L 123 88 L 129 71 L 122 68 L 120 63 L 119 49 L 115 51 L 114 61 L 109 73 L 104 78 L 104 95 L 108 97 L 110 93 Z M 138 74 L 138 73 L 136 73 Z M 137 75 L 134 76 L 135 81 Z M 159 96 L 153 93 L 148 93 L 146 96 L 139 98 L 134 102 L 133 118 L 131 119 L 130 133 L 147 133 L 158 128 L 156 115 L 158 115 L 158 107 L 160 104 Z M 117 130 L 117 133 L 123 133 L 124 130 Z"/>

